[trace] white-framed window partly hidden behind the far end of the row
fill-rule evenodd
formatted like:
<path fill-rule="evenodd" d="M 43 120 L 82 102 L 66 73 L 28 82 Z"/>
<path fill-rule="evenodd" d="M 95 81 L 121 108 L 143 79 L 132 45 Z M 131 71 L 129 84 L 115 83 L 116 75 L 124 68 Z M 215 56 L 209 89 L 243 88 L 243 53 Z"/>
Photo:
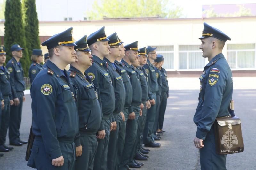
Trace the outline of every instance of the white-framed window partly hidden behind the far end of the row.
<path fill-rule="evenodd" d="M 174 69 L 174 46 L 151 46 L 156 48 L 156 53 L 164 56 L 164 69 Z"/>

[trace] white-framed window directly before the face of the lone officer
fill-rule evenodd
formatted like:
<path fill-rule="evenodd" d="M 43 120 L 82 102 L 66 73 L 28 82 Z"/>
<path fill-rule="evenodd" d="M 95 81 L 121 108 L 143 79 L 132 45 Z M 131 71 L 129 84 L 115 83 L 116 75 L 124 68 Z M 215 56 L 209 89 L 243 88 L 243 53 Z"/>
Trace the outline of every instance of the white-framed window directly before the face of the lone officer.
<path fill-rule="evenodd" d="M 179 69 L 202 69 L 206 59 L 202 57 L 200 45 L 179 45 Z"/>

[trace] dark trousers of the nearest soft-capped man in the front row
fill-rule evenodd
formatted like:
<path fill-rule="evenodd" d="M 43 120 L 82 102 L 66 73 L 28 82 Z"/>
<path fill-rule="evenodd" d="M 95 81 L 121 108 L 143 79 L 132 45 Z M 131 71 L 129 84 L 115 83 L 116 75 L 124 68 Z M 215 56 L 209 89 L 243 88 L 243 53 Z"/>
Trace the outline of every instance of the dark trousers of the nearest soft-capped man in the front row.
<path fill-rule="evenodd" d="M 152 96 L 157 104 L 159 101 L 156 99 L 156 93 L 152 93 Z M 151 105 L 150 109 L 147 110 L 146 123 L 143 131 L 143 144 L 148 144 L 151 141 L 155 141 L 153 136 L 153 128 L 156 118 L 156 104 Z"/>

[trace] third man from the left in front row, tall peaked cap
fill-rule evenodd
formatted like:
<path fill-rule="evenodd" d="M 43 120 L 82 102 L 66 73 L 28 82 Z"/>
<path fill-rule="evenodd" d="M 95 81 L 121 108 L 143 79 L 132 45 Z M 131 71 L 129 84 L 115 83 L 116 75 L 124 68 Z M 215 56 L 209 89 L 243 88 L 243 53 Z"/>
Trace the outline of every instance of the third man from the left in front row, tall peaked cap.
<path fill-rule="evenodd" d="M 110 131 L 113 129 L 115 120 L 112 121 L 112 113 L 115 109 L 115 93 L 112 86 L 112 79 L 107 70 L 107 63 L 103 58 L 109 55 L 109 39 L 104 31 L 105 27 L 88 36 L 88 45 L 93 56 L 92 66 L 86 72 L 92 78 L 94 85 L 98 87 L 98 100 L 102 108 L 103 120 L 100 126 L 98 148 L 94 159 L 93 169 L 106 170 L 107 153 Z M 105 135 L 105 137 L 104 137 Z M 104 137 L 104 139 L 103 139 Z"/>

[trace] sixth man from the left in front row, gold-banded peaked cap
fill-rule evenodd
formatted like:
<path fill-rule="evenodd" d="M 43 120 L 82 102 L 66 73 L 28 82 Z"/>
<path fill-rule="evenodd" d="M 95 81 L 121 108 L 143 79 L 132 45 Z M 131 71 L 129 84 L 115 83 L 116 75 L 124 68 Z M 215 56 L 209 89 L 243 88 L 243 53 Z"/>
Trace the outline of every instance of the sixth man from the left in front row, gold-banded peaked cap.
<path fill-rule="evenodd" d="M 125 143 L 124 149 L 122 153 L 122 161 L 120 165 L 120 169 L 127 169 L 128 163 L 129 167 L 138 168 L 141 165 L 133 164 L 133 154 L 135 152 L 134 142 L 137 136 L 138 130 L 138 119 L 139 115 L 142 114 L 140 109 L 141 105 L 141 97 L 142 97 L 142 89 L 140 86 L 140 81 L 136 75 L 135 68 L 131 65 L 132 62 L 138 60 L 138 41 L 135 41 L 131 44 L 124 46 L 125 48 L 125 56 L 121 60 L 122 64 L 124 65 L 124 69 L 127 71 L 130 82 L 132 84 L 132 103 L 131 106 L 128 108 L 129 111 L 129 118 L 126 124 L 126 136 L 125 136 Z M 127 91 L 126 91 L 127 92 Z"/>

